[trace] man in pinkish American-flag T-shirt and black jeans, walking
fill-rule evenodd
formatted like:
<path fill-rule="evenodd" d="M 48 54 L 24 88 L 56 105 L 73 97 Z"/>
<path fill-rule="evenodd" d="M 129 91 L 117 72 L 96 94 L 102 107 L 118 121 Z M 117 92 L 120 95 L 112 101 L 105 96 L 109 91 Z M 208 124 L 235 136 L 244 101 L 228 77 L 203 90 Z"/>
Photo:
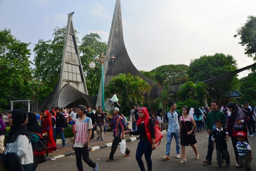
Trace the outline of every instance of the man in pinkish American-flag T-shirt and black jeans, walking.
<path fill-rule="evenodd" d="M 85 163 L 93 168 L 93 171 L 98 171 L 98 164 L 89 158 L 88 145 L 92 135 L 93 124 L 92 119 L 85 116 L 85 110 L 86 107 L 84 105 L 79 105 L 77 108 L 79 118 L 76 119 L 72 148 L 76 154 L 76 166 L 79 171 L 83 170 L 82 157 Z"/>

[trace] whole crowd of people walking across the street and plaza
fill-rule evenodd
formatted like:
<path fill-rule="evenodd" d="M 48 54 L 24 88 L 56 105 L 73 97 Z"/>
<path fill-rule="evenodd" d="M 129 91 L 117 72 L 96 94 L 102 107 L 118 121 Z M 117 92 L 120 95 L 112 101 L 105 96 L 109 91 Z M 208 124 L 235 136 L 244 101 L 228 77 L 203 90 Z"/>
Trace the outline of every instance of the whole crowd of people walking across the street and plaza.
<path fill-rule="evenodd" d="M 139 135 L 140 141 L 136 150 L 136 160 L 140 170 L 145 170 L 142 156 L 144 154 L 148 170 L 152 170 L 151 153 L 156 149 L 154 125 L 159 125 L 161 130 L 165 129 L 167 123 L 166 153 L 163 160 L 170 159 L 171 140 L 174 137 L 176 143 L 176 158 L 181 158 L 179 163 L 187 162 L 185 146 L 191 146 L 195 152 L 195 160 L 199 160 L 199 153 L 196 147 L 196 133 L 206 129 L 209 134 L 207 155 L 203 163 L 212 164 L 213 150 L 217 153 L 217 166 L 219 169 L 222 163 L 230 166 L 230 156 L 227 148 L 229 139 L 232 141 L 236 167 L 244 167 L 250 170 L 250 162 L 253 159 L 250 144 L 247 137 L 256 136 L 255 132 L 255 108 L 245 101 L 243 105 L 229 102 L 219 108 L 216 100 L 211 101 L 210 107 L 195 106 L 182 108 L 182 114 L 176 110 L 175 102 L 170 103 L 170 110 L 164 112 L 147 111 L 145 107 L 133 106 L 130 117 L 121 114 L 119 108 L 113 109 L 113 114 L 102 111 L 98 106 L 92 110 L 91 107 L 79 105 L 74 108 L 53 107 L 51 110 L 42 109 L 40 116 L 35 112 L 26 112 L 25 109 L 14 109 L 10 113 L 0 115 L 0 153 L 17 153 L 24 170 L 35 170 L 37 165 L 44 161 L 45 151 L 39 152 L 34 149 L 34 144 L 39 140 L 43 141 L 43 135 L 49 138 L 48 152 L 57 152 L 66 148 L 64 129 L 74 125 L 73 150 L 76 155 L 78 170 L 83 170 L 82 159 L 93 170 L 98 170 L 98 164 L 89 158 L 88 145 L 93 138 L 103 141 L 104 134 L 113 131 L 113 143 L 107 162 L 114 160 L 114 153 L 119 142 L 124 139 L 125 134 Z M 151 117 L 150 117 L 151 116 Z M 40 124 L 40 125 L 39 125 Z M 10 133 L 4 147 L 4 135 L 6 127 L 10 126 Z M 94 136 L 94 130 L 97 135 Z M 62 146 L 57 149 L 56 136 L 60 135 Z M 148 134 L 151 136 L 149 141 Z M 24 143 L 18 143 L 18 142 Z M 126 148 L 125 157 L 131 151 Z M 182 155 L 182 156 L 180 156 Z"/>

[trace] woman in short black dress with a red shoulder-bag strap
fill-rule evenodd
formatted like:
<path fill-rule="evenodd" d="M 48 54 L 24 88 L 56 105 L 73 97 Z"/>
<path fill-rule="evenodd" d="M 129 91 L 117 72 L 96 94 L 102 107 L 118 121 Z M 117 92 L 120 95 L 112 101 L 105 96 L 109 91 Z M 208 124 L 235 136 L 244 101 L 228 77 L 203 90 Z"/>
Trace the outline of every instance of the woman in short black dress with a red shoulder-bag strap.
<path fill-rule="evenodd" d="M 182 109 L 183 116 L 180 117 L 180 145 L 181 145 L 182 160 L 179 163 L 187 162 L 187 159 L 185 156 L 185 146 L 188 146 L 188 145 L 190 145 L 195 151 L 195 154 L 196 154 L 195 159 L 196 160 L 199 159 L 199 154 L 197 153 L 197 149 L 195 145 L 197 141 L 196 141 L 196 138 L 192 135 L 194 133 L 193 132 L 194 129 L 196 128 L 196 122 L 192 116 L 188 115 L 188 113 L 189 113 L 189 108 L 187 106 L 183 107 Z"/>

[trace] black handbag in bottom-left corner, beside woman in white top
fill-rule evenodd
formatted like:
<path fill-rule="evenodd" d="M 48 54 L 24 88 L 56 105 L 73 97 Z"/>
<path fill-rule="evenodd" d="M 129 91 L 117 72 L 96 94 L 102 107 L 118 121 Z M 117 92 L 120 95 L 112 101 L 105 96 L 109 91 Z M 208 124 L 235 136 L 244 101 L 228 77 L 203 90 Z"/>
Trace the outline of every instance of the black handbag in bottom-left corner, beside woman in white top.
<path fill-rule="evenodd" d="M 17 153 L 7 152 L 5 154 L 7 146 L 6 146 L 3 154 L 0 156 L 0 170 L 1 171 L 8 171 L 8 170 L 24 171 L 23 166 L 20 162 L 20 159 L 19 159 L 19 156 Z"/>

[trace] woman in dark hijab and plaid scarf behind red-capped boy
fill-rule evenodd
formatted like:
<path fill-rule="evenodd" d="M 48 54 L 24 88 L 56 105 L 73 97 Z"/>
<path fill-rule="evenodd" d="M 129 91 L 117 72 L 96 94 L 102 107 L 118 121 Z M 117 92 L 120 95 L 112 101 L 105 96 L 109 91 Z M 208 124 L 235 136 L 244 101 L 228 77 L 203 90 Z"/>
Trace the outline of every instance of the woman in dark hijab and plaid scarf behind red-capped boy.
<path fill-rule="evenodd" d="M 246 139 L 245 141 L 248 142 L 247 138 L 247 122 L 250 122 L 250 118 L 246 116 L 245 110 L 240 108 L 238 105 L 234 104 L 233 102 L 229 102 L 227 105 L 227 108 L 229 109 L 230 113 L 228 114 L 227 119 L 227 126 L 226 126 L 226 139 L 228 140 L 229 137 L 231 137 L 233 149 L 236 156 L 237 161 L 237 168 L 241 167 L 241 165 L 238 165 L 238 153 L 237 153 L 237 137 L 236 133 L 239 131 L 243 131 L 246 133 Z M 249 142 L 248 142 L 249 143 Z"/>

